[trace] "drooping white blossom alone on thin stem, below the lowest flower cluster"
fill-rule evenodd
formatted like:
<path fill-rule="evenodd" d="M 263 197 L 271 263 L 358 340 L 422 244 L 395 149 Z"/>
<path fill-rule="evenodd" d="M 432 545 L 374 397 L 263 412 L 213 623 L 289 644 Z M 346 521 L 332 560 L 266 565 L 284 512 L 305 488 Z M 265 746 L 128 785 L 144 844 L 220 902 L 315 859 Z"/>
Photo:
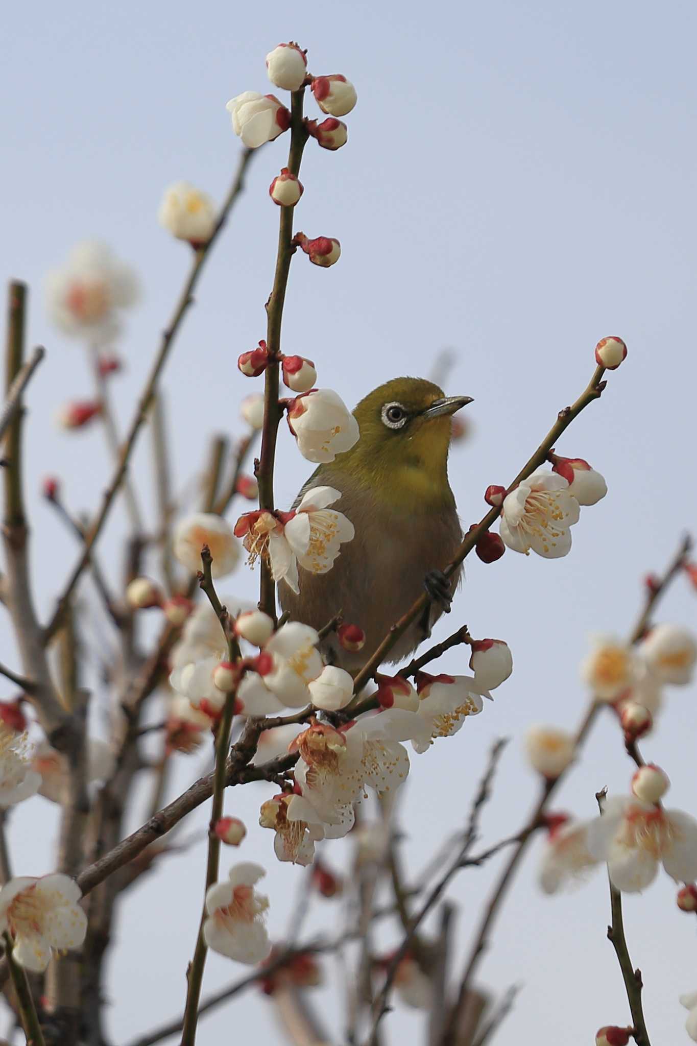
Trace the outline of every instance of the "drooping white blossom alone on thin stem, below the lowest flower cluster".
<path fill-rule="evenodd" d="M 254 889 L 263 876 L 258 864 L 235 864 L 229 881 L 214 883 L 206 893 L 204 940 L 214 952 L 248 965 L 261 962 L 271 951 L 263 920 L 269 900 Z"/>

